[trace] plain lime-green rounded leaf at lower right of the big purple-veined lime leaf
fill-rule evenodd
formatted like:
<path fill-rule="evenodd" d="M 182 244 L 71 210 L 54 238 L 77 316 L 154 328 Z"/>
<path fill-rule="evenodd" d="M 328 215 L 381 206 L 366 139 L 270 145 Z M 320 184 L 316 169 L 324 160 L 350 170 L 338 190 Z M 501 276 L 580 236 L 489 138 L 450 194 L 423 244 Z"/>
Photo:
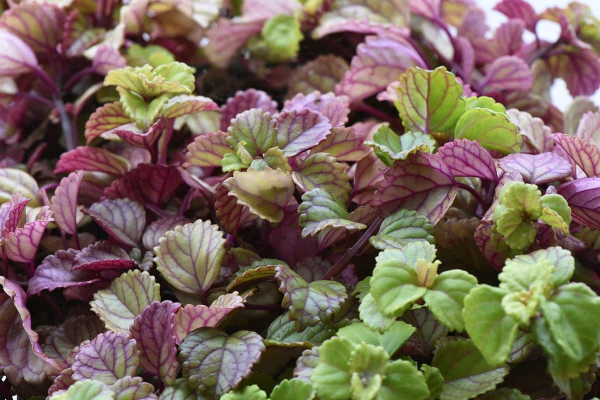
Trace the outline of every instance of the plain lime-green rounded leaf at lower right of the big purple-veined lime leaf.
<path fill-rule="evenodd" d="M 503 155 L 520 151 L 523 139 L 504 113 L 475 107 L 465 112 L 454 129 L 455 139 L 479 142 L 484 149 L 496 150 Z"/>

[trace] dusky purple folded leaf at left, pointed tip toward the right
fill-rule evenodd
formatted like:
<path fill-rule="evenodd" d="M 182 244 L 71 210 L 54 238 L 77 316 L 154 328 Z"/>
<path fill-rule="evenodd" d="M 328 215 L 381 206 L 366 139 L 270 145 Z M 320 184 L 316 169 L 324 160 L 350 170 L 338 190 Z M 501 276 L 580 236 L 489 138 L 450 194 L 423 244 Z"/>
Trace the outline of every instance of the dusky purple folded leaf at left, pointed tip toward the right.
<path fill-rule="evenodd" d="M 49 255 L 35 269 L 34 276 L 29 279 L 28 296 L 40 294 L 43 290 L 53 291 L 56 288 L 79 287 L 100 282 L 95 274 L 73 270 L 74 249 L 59 250 Z"/>

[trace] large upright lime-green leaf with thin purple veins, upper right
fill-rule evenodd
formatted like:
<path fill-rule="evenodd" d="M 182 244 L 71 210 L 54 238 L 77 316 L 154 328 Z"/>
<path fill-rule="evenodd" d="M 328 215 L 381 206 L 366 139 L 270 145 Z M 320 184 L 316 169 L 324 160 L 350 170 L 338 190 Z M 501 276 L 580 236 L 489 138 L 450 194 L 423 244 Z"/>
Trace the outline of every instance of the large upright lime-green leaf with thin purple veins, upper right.
<path fill-rule="evenodd" d="M 463 86 L 445 67 L 433 71 L 409 68 L 400 76 L 394 105 L 407 131 L 452 130 L 464 112 Z"/>

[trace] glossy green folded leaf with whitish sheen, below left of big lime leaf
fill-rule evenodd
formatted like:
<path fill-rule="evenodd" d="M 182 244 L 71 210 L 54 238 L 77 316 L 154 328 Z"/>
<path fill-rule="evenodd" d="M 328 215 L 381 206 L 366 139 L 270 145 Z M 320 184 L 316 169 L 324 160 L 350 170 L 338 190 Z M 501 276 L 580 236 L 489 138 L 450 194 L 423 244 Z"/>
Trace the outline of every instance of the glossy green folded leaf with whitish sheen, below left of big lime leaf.
<path fill-rule="evenodd" d="M 367 140 L 365 145 L 371 146 L 377 157 L 391 167 L 395 160 L 405 160 L 417 150 L 432 152 L 436 148 L 436 140 L 421 132 L 407 132 L 400 136 L 388 124 L 383 124 L 373 135 L 373 140 Z"/>

